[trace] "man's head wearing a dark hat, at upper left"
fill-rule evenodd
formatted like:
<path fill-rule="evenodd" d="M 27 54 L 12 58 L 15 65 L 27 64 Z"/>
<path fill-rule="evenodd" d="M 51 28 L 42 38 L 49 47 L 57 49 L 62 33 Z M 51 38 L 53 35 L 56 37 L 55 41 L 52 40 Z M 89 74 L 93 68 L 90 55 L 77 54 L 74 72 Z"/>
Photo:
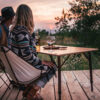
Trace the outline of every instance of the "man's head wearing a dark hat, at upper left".
<path fill-rule="evenodd" d="M 12 7 L 5 7 L 1 10 L 1 16 L 2 16 L 2 20 L 1 23 L 2 24 L 12 24 L 12 20 L 15 16 L 14 10 Z"/>

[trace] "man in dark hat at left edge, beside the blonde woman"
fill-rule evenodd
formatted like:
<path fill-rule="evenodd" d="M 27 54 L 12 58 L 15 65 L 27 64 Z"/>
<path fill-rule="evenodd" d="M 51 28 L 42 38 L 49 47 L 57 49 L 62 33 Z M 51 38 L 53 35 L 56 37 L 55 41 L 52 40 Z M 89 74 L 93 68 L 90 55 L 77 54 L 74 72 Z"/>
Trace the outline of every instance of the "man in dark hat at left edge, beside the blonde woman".
<path fill-rule="evenodd" d="M 12 7 L 5 7 L 1 10 L 0 45 L 8 46 L 9 44 L 9 26 L 12 24 L 14 16 Z"/>

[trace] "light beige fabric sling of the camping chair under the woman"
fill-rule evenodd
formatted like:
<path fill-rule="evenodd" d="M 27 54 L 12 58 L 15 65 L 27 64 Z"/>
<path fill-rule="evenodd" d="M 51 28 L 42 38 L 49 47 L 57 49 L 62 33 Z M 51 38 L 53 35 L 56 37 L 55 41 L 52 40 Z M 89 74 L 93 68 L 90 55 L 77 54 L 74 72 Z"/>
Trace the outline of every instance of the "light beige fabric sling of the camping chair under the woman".
<path fill-rule="evenodd" d="M 0 49 L 6 72 L 17 83 L 29 84 L 40 77 L 41 70 L 36 69 L 6 47 Z"/>

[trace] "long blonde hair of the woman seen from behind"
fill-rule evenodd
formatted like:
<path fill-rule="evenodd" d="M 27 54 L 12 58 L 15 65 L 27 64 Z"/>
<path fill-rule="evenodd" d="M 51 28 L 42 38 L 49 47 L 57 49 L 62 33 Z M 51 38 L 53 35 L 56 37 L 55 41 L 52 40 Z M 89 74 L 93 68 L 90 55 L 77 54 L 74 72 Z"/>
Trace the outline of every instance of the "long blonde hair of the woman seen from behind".
<path fill-rule="evenodd" d="M 16 11 L 15 25 L 26 26 L 30 33 L 33 33 L 34 22 L 33 14 L 30 7 L 25 4 L 21 4 Z"/>

